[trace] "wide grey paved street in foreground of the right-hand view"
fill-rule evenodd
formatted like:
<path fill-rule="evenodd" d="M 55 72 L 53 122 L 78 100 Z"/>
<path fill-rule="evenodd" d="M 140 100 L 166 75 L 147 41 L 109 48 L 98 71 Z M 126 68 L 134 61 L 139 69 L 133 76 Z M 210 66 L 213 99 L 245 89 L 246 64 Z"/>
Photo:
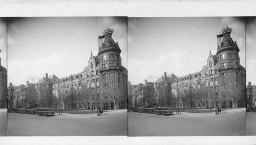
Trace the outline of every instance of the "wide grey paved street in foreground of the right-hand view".
<path fill-rule="evenodd" d="M 184 115 L 185 114 L 185 115 Z M 129 136 L 225 136 L 245 135 L 245 109 L 220 115 L 205 113 L 155 115 L 129 112 Z"/>

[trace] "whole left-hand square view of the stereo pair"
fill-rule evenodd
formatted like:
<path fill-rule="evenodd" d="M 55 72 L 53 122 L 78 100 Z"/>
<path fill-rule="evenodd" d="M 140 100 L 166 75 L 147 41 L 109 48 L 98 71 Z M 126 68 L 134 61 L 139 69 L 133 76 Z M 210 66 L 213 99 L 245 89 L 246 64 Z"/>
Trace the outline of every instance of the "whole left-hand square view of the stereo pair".
<path fill-rule="evenodd" d="M 7 18 L 8 136 L 127 136 L 126 20 Z"/>

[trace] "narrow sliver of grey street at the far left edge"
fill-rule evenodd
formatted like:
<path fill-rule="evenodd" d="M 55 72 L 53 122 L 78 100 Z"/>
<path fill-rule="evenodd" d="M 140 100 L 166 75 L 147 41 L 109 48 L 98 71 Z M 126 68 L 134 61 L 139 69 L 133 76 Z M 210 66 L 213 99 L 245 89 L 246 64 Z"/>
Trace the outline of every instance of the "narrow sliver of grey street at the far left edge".
<path fill-rule="evenodd" d="M 0 136 L 7 135 L 7 109 L 0 109 Z"/>

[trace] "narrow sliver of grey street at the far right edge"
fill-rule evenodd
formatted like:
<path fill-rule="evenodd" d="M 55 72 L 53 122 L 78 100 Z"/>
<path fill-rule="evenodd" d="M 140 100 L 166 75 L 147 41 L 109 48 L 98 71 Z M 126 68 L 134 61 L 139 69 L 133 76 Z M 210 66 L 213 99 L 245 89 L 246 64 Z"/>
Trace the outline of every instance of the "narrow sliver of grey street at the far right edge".
<path fill-rule="evenodd" d="M 255 112 L 246 112 L 246 135 L 256 135 Z"/>

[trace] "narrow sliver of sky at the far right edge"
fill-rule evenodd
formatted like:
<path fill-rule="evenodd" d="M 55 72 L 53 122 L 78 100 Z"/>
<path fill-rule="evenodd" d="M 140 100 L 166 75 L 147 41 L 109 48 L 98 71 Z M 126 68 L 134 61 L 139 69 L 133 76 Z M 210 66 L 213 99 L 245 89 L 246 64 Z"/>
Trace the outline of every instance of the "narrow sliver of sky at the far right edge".
<path fill-rule="evenodd" d="M 246 85 L 256 85 L 256 17 L 246 22 Z"/>

